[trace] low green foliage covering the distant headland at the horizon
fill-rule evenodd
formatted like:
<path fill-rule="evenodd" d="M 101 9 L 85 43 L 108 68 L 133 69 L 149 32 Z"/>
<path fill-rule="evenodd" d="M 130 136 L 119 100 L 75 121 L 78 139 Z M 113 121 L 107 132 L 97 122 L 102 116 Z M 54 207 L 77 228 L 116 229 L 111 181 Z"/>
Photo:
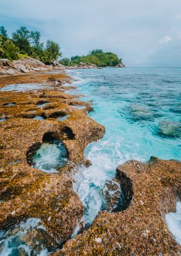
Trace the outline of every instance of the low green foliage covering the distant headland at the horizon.
<path fill-rule="evenodd" d="M 62 65 L 75 66 L 80 63 L 94 64 L 98 67 L 115 67 L 117 64 L 122 63 L 115 53 L 104 53 L 101 49 L 95 49 L 86 56 L 74 56 L 71 59 L 62 59 Z"/>

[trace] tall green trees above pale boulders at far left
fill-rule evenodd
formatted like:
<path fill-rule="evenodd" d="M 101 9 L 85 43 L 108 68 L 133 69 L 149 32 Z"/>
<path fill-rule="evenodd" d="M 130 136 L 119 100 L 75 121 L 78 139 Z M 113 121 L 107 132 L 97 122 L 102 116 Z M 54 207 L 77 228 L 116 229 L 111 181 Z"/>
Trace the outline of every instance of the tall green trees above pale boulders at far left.
<path fill-rule="evenodd" d="M 0 27 L 0 59 L 12 61 L 29 56 L 39 59 L 45 64 L 50 64 L 61 55 L 59 44 L 47 40 L 46 45 L 44 45 L 38 31 L 29 31 L 22 26 L 13 32 L 9 38 L 5 27 Z"/>

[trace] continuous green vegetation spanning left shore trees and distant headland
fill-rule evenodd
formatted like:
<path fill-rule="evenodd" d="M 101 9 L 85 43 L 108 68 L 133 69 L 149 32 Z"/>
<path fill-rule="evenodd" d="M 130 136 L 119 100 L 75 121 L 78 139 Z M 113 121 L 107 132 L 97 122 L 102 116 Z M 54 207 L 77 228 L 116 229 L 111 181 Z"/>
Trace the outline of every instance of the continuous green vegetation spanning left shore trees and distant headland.
<path fill-rule="evenodd" d="M 38 31 L 30 31 L 25 26 L 21 26 L 9 37 L 5 27 L 0 26 L 0 59 L 13 61 L 22 57 L 32 57 L 48 65 L 53 61 L 58 61 L 62 57 L 62 53 L 58 43 L 47 40 L 44 44 Z M 77 66 L 80 63 L 97 67 L 115 67 L 122 64 L 122 59 L 119 59 L 115 53 L 95 49 L 90 51 L 88 55 L 76 55 L 70 59 L 63 58 L 59 62 L 68 67 Z"/>

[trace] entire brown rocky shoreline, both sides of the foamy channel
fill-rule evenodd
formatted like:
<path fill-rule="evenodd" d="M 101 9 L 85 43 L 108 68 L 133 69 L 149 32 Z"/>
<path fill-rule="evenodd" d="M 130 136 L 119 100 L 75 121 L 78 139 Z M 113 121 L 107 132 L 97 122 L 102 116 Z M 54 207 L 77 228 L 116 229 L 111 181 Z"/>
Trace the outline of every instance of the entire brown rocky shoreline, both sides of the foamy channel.
<path fill-rule="evenodd" d="M 180 255 L 181 247 L 164 219 L 180 198 L 181 163 L 176 160 L 151 158 L 145 164 L 131 160 L 119 166 L 107 187 L 116 190 L 115 182 L 121 186 L 121 203 L 120 193 L 107 197 L 107 209 L 99 212 L 90 228 L 70 239 L 84 214 L 72 189 L 72 174 L 77 166 L 91 164 L 84 149 L 103 137 L 105 127 L 88 117 L 93 110 L 90 102 L 68 94 L 76 88 L 64 67 L 37 63 L 25 71 L 21 64 L 6 63 L 0 77 L 1 230 L 10 230 L 10 236 L 19 232 L 22 222 L 38 220 L 39 226 L 21 237 L 32 255 L 42 249 L 56 251 L 52 255 Z M 56 70 L 62 73 L 49 72 Z M 26 86 L 32 90 L 26 91 Z M 66 164 L 56 173 L 35 168 L 34 153 L 54 140 L 64 143 Z M 112 205 L 117 206 L 113 211 Z M 0 254 L 4 247 L 1 244 Z M 23 249 L 17 253 L 27 255 Z"/>

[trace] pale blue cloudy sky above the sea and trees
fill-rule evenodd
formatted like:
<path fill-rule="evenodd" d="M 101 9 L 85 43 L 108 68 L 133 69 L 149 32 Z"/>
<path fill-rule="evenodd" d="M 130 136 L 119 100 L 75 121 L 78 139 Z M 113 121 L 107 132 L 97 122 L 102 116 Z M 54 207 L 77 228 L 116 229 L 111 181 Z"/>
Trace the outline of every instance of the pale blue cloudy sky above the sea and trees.
<path fill-rule="evenodd" d="M 181 0 L 0 0 L 0 26 L 38 30 L 63 57 L 103 49 L 127 67 L 181 67 Z"/>

